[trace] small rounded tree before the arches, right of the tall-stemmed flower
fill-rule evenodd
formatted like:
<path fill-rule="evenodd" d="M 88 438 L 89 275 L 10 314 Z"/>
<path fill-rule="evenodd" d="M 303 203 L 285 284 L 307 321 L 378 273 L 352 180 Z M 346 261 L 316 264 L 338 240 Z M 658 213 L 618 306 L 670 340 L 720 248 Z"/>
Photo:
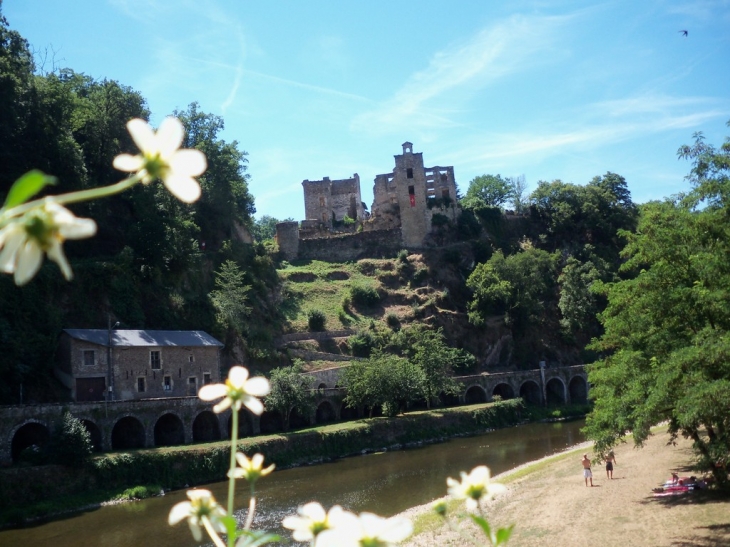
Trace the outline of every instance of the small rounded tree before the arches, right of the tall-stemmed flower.
<path fill-rule="evenodd" d="M 275 368 L 271 371 L 269 383 L 271 391 L 264 399 L 269 410 L 281 414 L 284 431 L 289 430 L 289 418 L 296 410 L 306 416 L 314 404 L 312 399 L 312 383 L 314 377 L 302 374 L 302 367 L 295 363 L 291 367 Z"/>

